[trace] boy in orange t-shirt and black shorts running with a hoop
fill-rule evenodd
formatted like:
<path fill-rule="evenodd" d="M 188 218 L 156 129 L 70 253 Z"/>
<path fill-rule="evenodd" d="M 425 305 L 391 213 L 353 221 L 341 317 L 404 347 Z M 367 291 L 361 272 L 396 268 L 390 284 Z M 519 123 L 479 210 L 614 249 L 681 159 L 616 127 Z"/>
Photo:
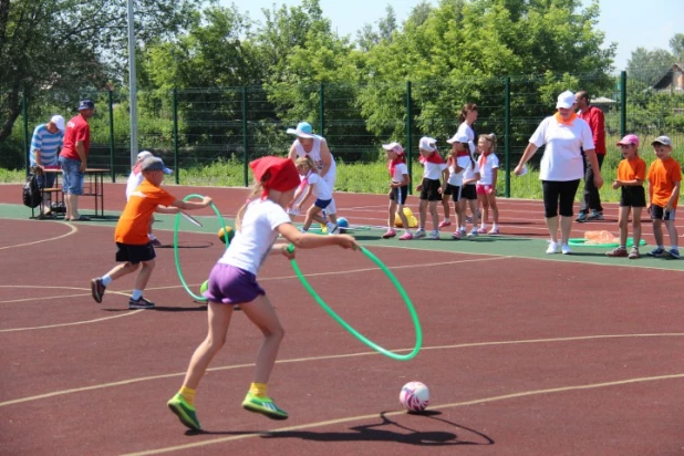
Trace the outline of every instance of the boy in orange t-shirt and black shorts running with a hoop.
<path fill-rule="evenodd" d="M 147 157 L 143 160 L 141 168 L 145 179 L 129 195 L 128 203 L 114 231 L 116 261 L 124 263 L 114 267 L 101 278 L 91 280 L 95 302 L 102 302 L 106 287 L 113 280 L 134 272 L 142 262 L 143 268 L 135 279 L 135 289 L 128 300 L 128 309 L 154 309 L 154 302 L 143 298 L 143 290 L 155 267 L 156 255 L 147 236 L 153 213 L 178 214 L 179 209 L 201 209 L 211 204 L 209 197 L 205 197 L 201 203 L 183 201 L 164 190 L 160 187 L 164 175 L 172 174 L 172 170 L 164 166 L 162 158 Z"/>

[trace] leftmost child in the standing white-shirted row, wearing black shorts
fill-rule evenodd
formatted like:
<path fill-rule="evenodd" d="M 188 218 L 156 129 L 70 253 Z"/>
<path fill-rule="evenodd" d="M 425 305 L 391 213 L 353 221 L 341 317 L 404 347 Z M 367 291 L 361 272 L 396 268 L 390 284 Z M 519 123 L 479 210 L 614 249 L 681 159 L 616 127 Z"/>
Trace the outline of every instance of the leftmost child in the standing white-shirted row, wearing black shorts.
<path fill-rule="evenodd" d="M 404 205 L 406 204 L 406 198 L 408 197 L 408 183 L 411 183 L 411 178 L 408 177 L 408 167 L 406 166 L 406 153 L 400 143 L 383 144 L 382 148 L 385 149 L 387 160 L 390 160 L 387 169 L 390 170 L 391 178 L 390 206 L 387 207 L 387 231 L 382 235 L 382 237 L 383 239 L 390 239 L 396 236 L 396 231 L 394 230 L 394 221 L 396 219 L 396 215 L 398 215 L 405 230 L 404 234 L 400 236 L 400 240 L 411 240 L 413 239 L 413 232 L 411 232 L 408 218 L 406 217 L 406 214 L 404 214 Z"/>

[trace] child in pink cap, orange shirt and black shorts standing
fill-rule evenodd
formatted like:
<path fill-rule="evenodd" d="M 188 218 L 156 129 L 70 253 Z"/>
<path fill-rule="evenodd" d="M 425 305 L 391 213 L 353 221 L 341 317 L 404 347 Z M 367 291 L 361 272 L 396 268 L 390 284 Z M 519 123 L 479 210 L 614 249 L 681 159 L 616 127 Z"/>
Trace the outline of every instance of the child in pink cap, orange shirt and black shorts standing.
<path fill-rule="evenodd" d="M 640 258 L 639 243 L 641 242 L 641 211 L 646 206 L 644 180 L 646 177 L 646 162 L 639 156 L 639 137 L 626 135 L 616 144 L 624 159 L 618 165 L 618 178 L 613 183 L 613 189 L 621 188 L 620 215 L 620 246 L 605 253 L 608 257 L 628 257 L 631 260 Z M 630 210 L 632 210 L 633 247 L 628 255 L 626 239 Z"/>

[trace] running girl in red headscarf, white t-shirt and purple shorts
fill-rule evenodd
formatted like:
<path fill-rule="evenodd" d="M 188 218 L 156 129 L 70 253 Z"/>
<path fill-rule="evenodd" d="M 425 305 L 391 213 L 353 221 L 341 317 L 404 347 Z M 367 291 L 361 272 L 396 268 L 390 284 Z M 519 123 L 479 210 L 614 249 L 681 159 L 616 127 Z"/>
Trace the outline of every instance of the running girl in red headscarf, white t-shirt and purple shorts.
<path fill-rule="evenodd" d="M 251 384 L 242 407 L 272 419 L 287 419 L 288 414 L 267 394 L 267 383 L 283 336 L 283 330 L 263 289 L 257 283 L 257 273 L 269 253 L 281 253 L 291 259 L 287 242 L 276 243 L 278 235 L 297 248 L 356 246 L 349 235 L 317 236 L 300 232 L 290 221 L 286 206 L 292 200 L 300 179 L 292 160 L 261 157 L 249 164 L 256 185 L 236 218 L 237 232 L 230 246 L 211 269 L 209 286 L 204 296 L 209 302 L 209 331 L 195 350 L 183 382 L 183 387 L 168 401 L 168 407 L 190 429 L 201 426 L 195 413 L 195 390 L 211 359 L 226 342 L 234 305 L 263 333 L 263 343 L 257 354 Z M 260 198 L 256 198 L 259 196 Z"/>

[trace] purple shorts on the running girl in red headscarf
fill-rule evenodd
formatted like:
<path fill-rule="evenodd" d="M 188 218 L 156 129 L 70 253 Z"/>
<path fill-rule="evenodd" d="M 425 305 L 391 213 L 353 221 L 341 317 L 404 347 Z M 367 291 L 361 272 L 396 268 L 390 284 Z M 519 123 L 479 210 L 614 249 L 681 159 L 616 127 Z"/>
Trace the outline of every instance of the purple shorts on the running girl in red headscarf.
<path fill-rule="evenodd" d="M 219 262 L 211 269 L 209 287 L 203 296 L 211 302 L 240 304 L 253 301 L 259 294 L 266 294 L 266 291 L 259 287 L 253 273 Z"/>

